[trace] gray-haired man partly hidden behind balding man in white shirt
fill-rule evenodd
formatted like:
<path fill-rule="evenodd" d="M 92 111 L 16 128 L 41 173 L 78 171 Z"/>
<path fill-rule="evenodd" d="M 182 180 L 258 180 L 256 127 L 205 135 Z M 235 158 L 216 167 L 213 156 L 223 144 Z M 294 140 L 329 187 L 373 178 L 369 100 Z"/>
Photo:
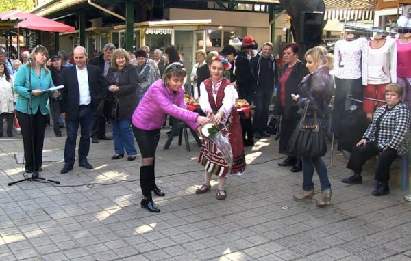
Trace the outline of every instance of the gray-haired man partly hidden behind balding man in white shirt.
<path fill-rule="evenodd" d="M 110 68 L 110 60 L 116 50 L 116 46 L 114 44 L 108 43 L 105 44 L 103 48 L 103 53 L 101 55 L 94 57 L 91 59 L 90 64 L 99 66 L 101 73 L 104 77 L 107 76 L 108 68 Z M 97 105 L 98 106 L 98 105 Z M 92 143 L 99 143 L 99 139 L 101 140 L 111 140 L 112 137 L 108 137 L 105 135 L 105 122 L 107 120 L 104 117 L 99 115 L 95 115 L 95 123 L 92 126 L 91 132 L 91 141 Z"/>

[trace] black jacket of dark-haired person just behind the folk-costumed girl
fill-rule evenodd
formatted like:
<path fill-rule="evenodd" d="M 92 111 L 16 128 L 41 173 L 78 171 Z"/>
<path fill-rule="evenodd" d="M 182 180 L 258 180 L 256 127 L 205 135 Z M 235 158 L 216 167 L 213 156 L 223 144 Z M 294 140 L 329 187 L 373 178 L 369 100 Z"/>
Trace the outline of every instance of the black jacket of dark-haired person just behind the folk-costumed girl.
<path fill-rule="evenodd" d="M 234 68 L 236 68 L 235 73 Z M 246 98 L 256 92 L 253 72 L 251 72 L 249 60 L 246 57 L 237 55 L 234 66 L 229 69 L 229 72 L 230 81 L 237 83 L 237 92 L 240 98 Z"/>

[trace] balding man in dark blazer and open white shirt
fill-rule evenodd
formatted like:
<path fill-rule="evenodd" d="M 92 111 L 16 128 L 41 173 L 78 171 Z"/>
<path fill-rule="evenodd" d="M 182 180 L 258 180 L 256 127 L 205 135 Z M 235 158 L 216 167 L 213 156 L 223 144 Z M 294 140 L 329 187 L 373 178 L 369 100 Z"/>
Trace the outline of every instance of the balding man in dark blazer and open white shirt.
<path fill-rule="evenodd" d="M 73 51 L 75 66 L 62 72 L 62 101 L 66 111 L 67 139 L 64 147 L 64 167 L 61 174 L 73 169 L 75 161 L 75 143 L 80 126 L 79 166 L 92 169 L 87 156 L 90 151 L 90 135 L 94 123 L 95 111 L 100 100 L 108 91 L 108 82 L 97 66 L 86 64 L 87 51 L 78 46 Z"/>

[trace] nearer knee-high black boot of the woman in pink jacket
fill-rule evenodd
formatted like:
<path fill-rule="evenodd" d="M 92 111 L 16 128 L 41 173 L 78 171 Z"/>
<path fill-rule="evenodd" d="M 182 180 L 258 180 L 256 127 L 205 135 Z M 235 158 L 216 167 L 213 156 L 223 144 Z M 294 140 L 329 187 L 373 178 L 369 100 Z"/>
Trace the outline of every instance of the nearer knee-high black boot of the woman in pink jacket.
<path fill-rule="evenodd" d="M 140 187 L 142 191 L 142 200 L 140 205 L 142 208 L 146 208 L 150 212 L 160 212 L 160 209 L 157 206 L 155 206 L 153 202 L 153 197 L 151 196 L 153 178 L 153 166 L 140 167 Z"/>

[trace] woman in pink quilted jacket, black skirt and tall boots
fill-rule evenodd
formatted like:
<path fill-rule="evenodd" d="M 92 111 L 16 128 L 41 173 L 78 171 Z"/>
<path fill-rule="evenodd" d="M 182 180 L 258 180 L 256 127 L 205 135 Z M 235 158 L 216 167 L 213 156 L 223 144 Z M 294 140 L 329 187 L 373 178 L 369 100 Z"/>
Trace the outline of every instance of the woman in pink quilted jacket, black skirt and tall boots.
<path fill-rule="evenodd" d="M 134 137 L 136 137 L 142 156 L 141 207 L 147 208 L 150 212 L 160 212 L 160 209 L 153 203 L 151 191 L 155 195 L 165 195 L 155 185 L 154 155 L 166 115 L 183 120 L 190 128 L 198 131 L 200 125 L 208 123 L 208 118 L 186 109 L 183 89 L 186 75 L 183 65 L 179 62 L 167 66 L 162 79 L 155 81 L 149 87 L 132 117 Z"/>

